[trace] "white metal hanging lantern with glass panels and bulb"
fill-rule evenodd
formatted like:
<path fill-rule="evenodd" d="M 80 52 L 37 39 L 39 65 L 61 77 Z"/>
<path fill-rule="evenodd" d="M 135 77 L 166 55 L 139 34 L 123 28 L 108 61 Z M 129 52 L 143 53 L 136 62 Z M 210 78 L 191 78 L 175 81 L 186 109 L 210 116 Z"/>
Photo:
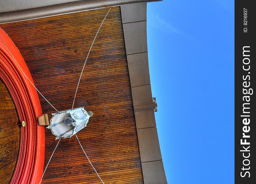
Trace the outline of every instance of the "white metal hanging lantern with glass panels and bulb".
<path fill-rule="evenodd" d="M 53 113 L 47 128 L 52 131 L 56 139 L 70 138 L 86 127 L 92 115 L 91 111 L 87 112 L 83 107 Z"/>

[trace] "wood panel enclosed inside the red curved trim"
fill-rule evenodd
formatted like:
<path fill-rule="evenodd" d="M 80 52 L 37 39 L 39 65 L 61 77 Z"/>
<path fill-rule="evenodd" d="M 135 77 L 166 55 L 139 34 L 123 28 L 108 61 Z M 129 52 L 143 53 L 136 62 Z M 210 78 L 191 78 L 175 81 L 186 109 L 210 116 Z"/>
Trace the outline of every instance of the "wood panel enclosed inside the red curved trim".
<path fill-rule="evenodd" d="M 10 93 L 0 80 L 0 184 L 7 184 L 18 158 L 20 127 Z"/>

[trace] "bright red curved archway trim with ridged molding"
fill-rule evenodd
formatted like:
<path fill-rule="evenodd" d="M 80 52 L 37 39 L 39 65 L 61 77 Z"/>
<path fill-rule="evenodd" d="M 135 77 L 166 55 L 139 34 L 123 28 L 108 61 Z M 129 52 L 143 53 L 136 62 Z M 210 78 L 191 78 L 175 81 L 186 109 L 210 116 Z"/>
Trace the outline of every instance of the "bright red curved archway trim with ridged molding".
<path fill-rule="evenodd" d="M 12 56 L 33 82 L 29 68 L 15 44 L 1 28 L 0 34 Z M 41 104 L 37 90 L 25 78 L 2 39 L 0 38 L 0 78 L 10 91 L 20 121 L 26 122 L 25 127 L 21 126 L 20 150 L 10 183 L 37 184 L 41 180 L 45 160 L 45 128 L 37 123 L 37 117 L 42 114 Z"/>

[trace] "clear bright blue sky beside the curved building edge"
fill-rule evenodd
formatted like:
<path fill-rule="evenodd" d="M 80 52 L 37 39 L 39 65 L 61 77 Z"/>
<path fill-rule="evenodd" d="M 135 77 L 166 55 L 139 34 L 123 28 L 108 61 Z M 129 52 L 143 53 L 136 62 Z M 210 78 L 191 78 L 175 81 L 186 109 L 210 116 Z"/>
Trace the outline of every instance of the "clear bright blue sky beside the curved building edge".
<path fill-rule="evenodd" d="M 234 1 L 148 3 L 147 37 L 168 183 L 234 183 Z"/>

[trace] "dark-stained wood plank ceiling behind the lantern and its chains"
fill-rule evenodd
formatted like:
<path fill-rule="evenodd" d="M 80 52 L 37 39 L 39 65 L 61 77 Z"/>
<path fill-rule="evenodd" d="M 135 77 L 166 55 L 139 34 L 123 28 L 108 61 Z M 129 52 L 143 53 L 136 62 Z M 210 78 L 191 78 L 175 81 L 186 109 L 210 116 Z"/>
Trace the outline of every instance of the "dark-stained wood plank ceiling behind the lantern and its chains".
<path fill-rule="evenodd" d="M 84 60 L 109 8 L 0 25 L 56 109 L 72 107 Z M 43 113 L 54 109 L 41 97 Z M 77 133 L 105 183 L 143 183 L 120 7 L 113 7 L 85 65 L 74 107 L 93 111 Z M 45 165 L 57 140 L 45 130 Z M 60 141 L 43 183 L 101 183 L 76 137 Z"/>

